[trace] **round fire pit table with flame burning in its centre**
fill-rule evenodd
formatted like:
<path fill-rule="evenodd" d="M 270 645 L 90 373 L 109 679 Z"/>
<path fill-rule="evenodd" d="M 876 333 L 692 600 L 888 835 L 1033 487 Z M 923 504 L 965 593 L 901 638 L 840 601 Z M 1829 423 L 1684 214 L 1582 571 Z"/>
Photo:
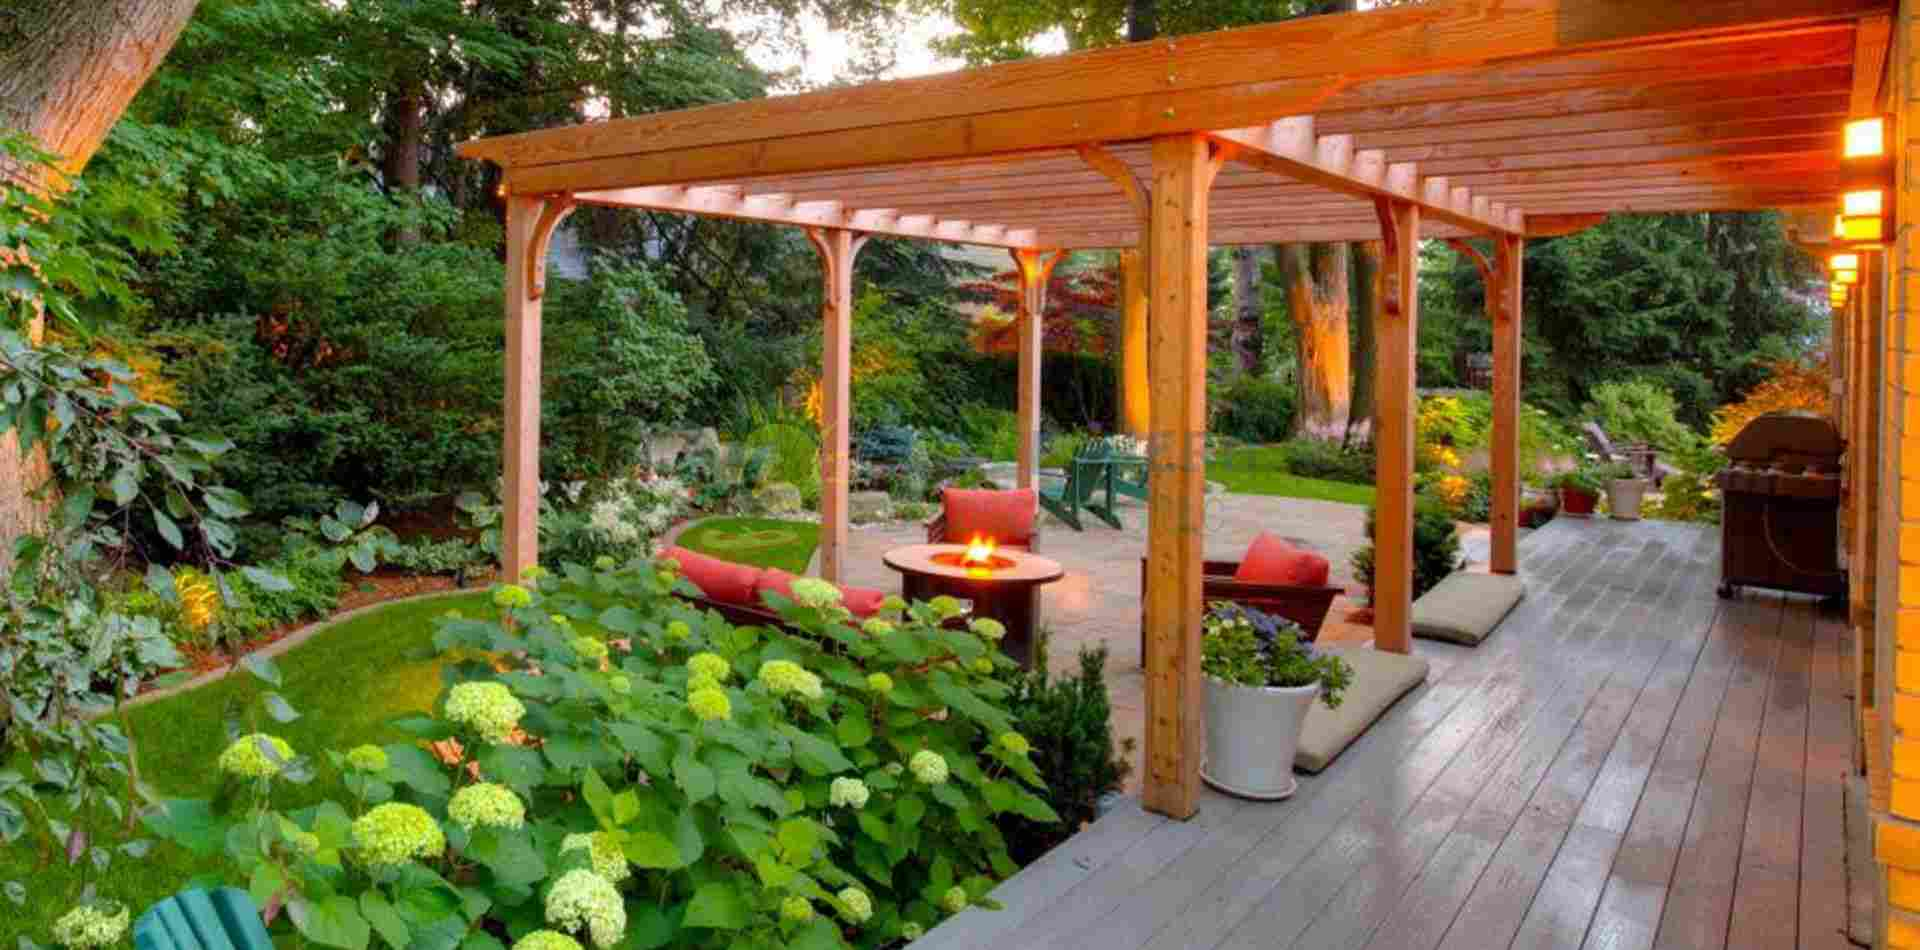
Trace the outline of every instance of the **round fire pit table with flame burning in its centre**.
<path fill-rule="evenodd" d="M 906 545 L 881 557 L 900 572 L 900 597 L 929 601 L 939 595 L 973 601 L 973 616 L 1006 628 L 1000 651 L 1020 666 L 1033 666 L 1033 629 L 1041 620 L 1041 585 L 1066 576 L 1058 560 L 1027 551 L 995 551 L 993 545 Z"/>

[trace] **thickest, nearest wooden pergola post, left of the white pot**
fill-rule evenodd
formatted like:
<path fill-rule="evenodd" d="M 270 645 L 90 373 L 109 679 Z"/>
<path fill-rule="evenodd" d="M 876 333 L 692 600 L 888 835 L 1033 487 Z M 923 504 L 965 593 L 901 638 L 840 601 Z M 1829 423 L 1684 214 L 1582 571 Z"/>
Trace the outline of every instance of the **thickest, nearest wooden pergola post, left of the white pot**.
<path fill-rule="evenodd" d="M 1152 476 L 1146 497 L 1146 783 L 1187 818 L 1200 796 L 1200 558 L 1206 547 L 1208 190 L 1219 155 L 1200 136 L 1154 138 Z"/>

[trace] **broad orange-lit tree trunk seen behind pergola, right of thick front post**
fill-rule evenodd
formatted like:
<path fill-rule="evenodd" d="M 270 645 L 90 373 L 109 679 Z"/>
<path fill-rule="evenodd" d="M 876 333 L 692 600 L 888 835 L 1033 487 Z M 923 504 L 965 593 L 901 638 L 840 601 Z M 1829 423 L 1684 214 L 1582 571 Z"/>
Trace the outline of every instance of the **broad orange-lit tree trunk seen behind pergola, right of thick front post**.
<path fill-rule="evenodd" d="M 1338 439 L 1350 399 L 1346 244 L 1281 244 L 1273 255 L 1294 321 L 1294 434 Z"/>

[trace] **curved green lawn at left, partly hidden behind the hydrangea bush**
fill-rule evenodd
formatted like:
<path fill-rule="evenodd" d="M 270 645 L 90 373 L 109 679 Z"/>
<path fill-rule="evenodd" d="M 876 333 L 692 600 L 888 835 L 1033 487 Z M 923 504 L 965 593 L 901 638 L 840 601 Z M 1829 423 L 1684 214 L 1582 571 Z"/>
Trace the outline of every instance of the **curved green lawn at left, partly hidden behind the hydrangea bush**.
<path fill-rule="evenodd" d="M 278 693 L 301 716 L 288 724 L 263 722 L 259 729 L 311 756 L 326 748 L 403 739 L 386 722 L 432 708 L 442 666 L 440 658 L 428 658 L 432 620 L 445 610 L 474 616 L 493 612 L 486 593 L 434 597 L 372 610 L 294 647 L 276 660 L 282 677 Z M 129 718 L 140 775 L 165 796 L 211 795 L 219 783 L 213 758 L 227 745 L 228 706 L 240 708 L 263 689 L 269 687 L 242 672 L 134 708 Z M 317 772 L 321 777 L 313 785 L 290 787 L 282 804 L 301 806 L 344 795 L 330 768 L 323 764 Z M 0 898 L 0 946 L 15 946 L 19 937 L 48 946 L 48 927 L 67 910 L 81 885 L 63 858 L 38 867 L 36 848 L 29 841 L 21 839 L 0 850 L 0 881 L 21 881 L 29 892 L 25 908 Z M 100 896 L 123 900 L 138 915 L 194 875 L 219 869 L 215 860 L 159 844 L 142 860 L 117 856 L 94 883 Z M 238 885 L 244 887 L 246 881 Z"/>

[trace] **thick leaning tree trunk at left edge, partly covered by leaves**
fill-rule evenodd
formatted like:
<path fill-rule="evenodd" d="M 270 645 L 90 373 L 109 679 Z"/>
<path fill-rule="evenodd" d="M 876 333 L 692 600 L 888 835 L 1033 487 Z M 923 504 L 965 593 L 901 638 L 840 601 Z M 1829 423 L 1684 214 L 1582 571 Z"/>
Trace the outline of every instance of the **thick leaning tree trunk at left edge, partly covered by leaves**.
<path fill-rule="evenodd" d="M 180 38 L 198 0 L 8 0 L 0 8 L 0 131 L 19 131 L 56 155 L 54 180 L 10 167 L 0 180 L 63 192 L 100 150 L 134 92 Z M 38 340 L 36 319 L 27 328 Z M 0 570 L 13 541 L 46 522 L 38 491 L 52 470 L 46 451 L 21 455 L 0 438 Z"/>

